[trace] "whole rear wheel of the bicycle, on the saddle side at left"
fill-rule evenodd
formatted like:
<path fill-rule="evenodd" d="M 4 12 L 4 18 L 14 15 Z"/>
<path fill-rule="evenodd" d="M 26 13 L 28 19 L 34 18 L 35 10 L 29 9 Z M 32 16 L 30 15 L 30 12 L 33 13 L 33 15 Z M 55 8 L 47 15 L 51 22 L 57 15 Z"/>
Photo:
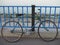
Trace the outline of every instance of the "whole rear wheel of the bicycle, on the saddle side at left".
<path fill-rule="evenodd" d="M 22 26 L 16 21 L 6 22 L 1 29 L 1 36 L 10 43 L 17 42 L 23 35 Z"/>

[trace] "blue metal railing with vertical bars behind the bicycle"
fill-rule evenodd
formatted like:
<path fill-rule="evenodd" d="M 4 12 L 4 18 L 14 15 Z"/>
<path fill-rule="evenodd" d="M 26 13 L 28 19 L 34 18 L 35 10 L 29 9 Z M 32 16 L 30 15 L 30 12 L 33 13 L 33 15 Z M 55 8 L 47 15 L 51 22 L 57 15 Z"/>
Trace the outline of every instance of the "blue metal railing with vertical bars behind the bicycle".
<path fill-rule="evenodd" d="M 31 28 L 39 18 L 52 20 L 60 28 L 60 6 L 0 6 L 0 28 L 10 20 L 19 21 L 23 28 Z"/>

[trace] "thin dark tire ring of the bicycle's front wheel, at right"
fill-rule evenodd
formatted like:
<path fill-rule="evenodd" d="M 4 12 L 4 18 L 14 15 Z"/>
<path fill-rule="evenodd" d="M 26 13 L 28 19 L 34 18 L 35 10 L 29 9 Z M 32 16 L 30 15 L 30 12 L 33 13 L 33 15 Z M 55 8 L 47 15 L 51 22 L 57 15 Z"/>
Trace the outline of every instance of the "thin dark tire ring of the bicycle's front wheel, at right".
<path fill-rule="evenodd" d="M 55 28 L 56 28 L 55 36 L 54 36 L 54 38 L 51 39 L 51 40 L 46 40 L 46 39 L 44 38 L 44 36 L 43 36 L 43 37 L 41 36 L 41 32 L 39 32 L 40 29 L 41 29 L 42 23 L 45 23 L 45 22 L 51 22 L 52 24 L 54 24 L 54 26 L 55 26 Z M 51 34 L 51 33 L 50 33 L 50 34 Z M 46 41 L 46 42 L 54 41 L 54 40 L 56 39 L 57 35 L 58 35 L 58 27 L 57 27 L 57 25 L 55 24 L 55 22 L 53 22 L 53 21 L 51 21 L 51 20 L 42 21 L 42 22 L 39 24 L 39 27 L 38 27 L 38 35 L 39 35 L 39 38 L 41 38 L 43 41 Z M 45 34 L 44 34 L 44 35 L 45 35 Z"/>

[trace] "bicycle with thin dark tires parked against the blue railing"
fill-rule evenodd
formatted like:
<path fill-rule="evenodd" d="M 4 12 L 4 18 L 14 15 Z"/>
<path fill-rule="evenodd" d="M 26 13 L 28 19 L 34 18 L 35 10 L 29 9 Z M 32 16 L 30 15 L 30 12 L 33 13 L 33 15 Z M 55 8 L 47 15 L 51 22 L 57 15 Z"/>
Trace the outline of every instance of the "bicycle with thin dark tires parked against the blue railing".
<path fill-rule="evenodd" d="M 39 35 L 39 38 L 41 38 L 42 40 L 47 41 L 47 42 L 53 41 L 53 40 L 56 39 L 56 37 L 58 35 L 58 28 L 57 28 L 55 22 L 53 22 L 51 20 L 42 21 L 41 19 L 39 19 L 36 24 L 38 24 L 38 23 L 39 23 L 39 26 L 38 26 L 37 33 Z M 36 24 L 34 24 L 31 27 L 31 29 L 29 29 L 29 30 L 32 30 L 32 28 L 34 28 Z M 54 26 L 53 27 L 48 27 L 47 24 L 48 25 L 54 25 Z M 9 25 L 9 26 L 7 26 L 7 25 Z M 5 30 L 4 28 L 6 28 L 6 27 L 10 27 L 10 30 L 9 29 Z M 52 32 L 50 31 L 50 29 L 53 29 L 53 30 L 51 30 Z M 19 33 L 17 33 L 17 32 L 14 33 L 14 30 L 15 31 L 18 30 Z M 6 31 L 9 31 L 9 32 L 6 32 Z M 48 32 L 48 31 L 50 31 L 50 32 Z M 49 33 L 49 35 L 46 34 L 46 33 Z M 18 21 L 7 21 L 2 26 L 2 29 L 1 29 L 2 38 L 5 41 L 11 42 L 11 43 L 18 42 L 22 38 L 23 34 L 25 34 L 24 31 L 23 31 L 23 27 Z M 45 34 L 46 34 L 46 36 L 45 36 Z"/>

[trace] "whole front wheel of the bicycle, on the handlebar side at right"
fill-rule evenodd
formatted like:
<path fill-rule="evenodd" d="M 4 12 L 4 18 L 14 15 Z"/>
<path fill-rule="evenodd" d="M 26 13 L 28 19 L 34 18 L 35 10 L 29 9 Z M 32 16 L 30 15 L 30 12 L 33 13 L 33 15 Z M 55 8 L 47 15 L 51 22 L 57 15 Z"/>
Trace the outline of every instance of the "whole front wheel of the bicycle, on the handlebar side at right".
<path fill-rule="evenodd" d="M 44 41 L 53 41 L 58 35 L 58 28 L 51 20 L 42 21 L 38 27 L 38 35 Z"/>

